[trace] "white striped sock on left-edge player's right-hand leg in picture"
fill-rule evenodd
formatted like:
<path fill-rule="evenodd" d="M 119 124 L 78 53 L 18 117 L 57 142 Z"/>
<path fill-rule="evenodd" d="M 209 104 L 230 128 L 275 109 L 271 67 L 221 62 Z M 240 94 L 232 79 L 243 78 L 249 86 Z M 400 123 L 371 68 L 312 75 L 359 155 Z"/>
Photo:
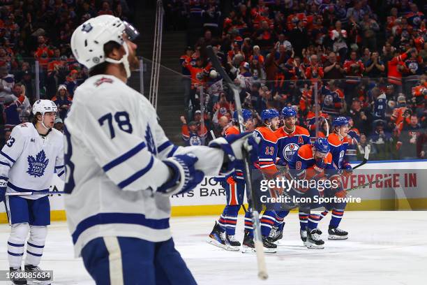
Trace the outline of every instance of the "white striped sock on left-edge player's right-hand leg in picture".
<path fill-rule="evenodd" d="M 40 263 L 45 247 L 47 226 L 30 226 L 30 238 L 27 242 L 25 265 L 37 266 Z"/>

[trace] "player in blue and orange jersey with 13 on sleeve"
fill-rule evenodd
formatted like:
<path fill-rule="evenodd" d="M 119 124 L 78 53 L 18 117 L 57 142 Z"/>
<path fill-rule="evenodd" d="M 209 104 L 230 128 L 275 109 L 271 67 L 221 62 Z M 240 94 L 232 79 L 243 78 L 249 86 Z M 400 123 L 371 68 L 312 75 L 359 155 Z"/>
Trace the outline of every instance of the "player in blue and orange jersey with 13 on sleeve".
<path fill-rule="evenodd" d="M 260 181 L 264 178 L 271 179 L 278 174 L 276 168 L 276 156 L 277 156 L 277 137 L 274 131 L 278 129 L 279 124 L 279 112 L 276 109 L 267 109 L 261 112 L 261 119 L 263 126 L 259 126 L 254 131 L 254 136 L 261 139 L 258 147 L 258 161 L 255 163 L 255 167 L 260 170 L 262 176 L 253 177 L 253 180 Z M 254 175 L 255 176 L 255 175 Z M 256 184 L 256 182 L 255 182 Z M 271 228 L 274 226 L 275 214 L 273 210 L 267 210 L 262 214 L 260 219 L 262 242 L 264 244 L 264 251 L 269 253 L 276 252 L 277 245 L 269 240 L 269 233 Z M 254 248 L 253 244 L 253 230 L 252 221 L 245 219 L 245 230 L 244 236 L 244 251 L 250 251 Z"/>

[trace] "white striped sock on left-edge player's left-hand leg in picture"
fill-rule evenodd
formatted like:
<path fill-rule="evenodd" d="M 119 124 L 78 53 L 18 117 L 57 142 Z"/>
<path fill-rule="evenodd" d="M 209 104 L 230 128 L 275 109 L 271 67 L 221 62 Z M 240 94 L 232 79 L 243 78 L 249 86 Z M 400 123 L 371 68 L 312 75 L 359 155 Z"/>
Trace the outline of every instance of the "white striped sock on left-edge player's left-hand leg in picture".
<path fill-rule="evenodd" d="M 25 239 L 28 235 L 28 224 L 13 224 L 8 239 L 9 267 L 20 268 L 24 255 Z"/>

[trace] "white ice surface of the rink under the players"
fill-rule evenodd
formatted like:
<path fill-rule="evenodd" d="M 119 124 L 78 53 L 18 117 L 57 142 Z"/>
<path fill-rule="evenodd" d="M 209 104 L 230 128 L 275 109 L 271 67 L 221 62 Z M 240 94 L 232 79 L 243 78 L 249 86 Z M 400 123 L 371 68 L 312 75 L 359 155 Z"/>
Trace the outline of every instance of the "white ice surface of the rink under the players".
<path fill-rule="evenodd" d="M 265 282 L 257 279 L 255 254 L 224 251 L 206 242 L 217 217 L 173 218 L 171 225 L 177 249 L 200 285 L 427 284 L 427 212 L 345 212 L 340 228 L 349 231 L 348 240 L 327 240 L 330 217 L 320 222 L 324 249 L 303 247 L 297 213 L 285 218 L 278 252 L 266 257 Z M 8 268 L 9 231 L 8 225 L 0 225 L 1 270 Z M 243 238 L 242 217 L 237 238 Z M 94 284 L 82 260 L 73 258 L 65 222 L 50 226 L 40 267 L 54 270 L 52 284 Z"/>

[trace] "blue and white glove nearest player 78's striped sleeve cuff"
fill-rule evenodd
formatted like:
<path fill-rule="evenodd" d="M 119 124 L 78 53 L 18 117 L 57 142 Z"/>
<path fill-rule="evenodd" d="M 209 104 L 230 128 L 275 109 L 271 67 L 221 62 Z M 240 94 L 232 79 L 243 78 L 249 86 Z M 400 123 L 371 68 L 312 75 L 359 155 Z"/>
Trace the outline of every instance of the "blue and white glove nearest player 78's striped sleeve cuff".
<path fill-rule="evenodd" d="M 204 173 L 195 169 L 197 156 L 181 154 L 163 161 L 172 170 L 172 178 L 158 187 L 157 192 L 175 195 L 188 192 L 202 182 Z"/>

